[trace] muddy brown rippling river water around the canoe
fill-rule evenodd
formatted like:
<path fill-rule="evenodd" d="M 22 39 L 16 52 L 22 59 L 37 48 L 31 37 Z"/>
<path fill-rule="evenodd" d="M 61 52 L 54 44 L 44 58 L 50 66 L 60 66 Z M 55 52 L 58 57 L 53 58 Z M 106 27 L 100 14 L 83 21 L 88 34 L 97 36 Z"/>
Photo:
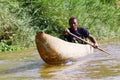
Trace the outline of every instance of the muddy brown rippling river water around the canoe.
<path fill-rule="evenodd" d="M 62 65 L 47 65 L 37 50 L 0 54 L 0 80 L 120 80 L 120 42 L 100 45 L 107 55 L 91 55 Z"/>

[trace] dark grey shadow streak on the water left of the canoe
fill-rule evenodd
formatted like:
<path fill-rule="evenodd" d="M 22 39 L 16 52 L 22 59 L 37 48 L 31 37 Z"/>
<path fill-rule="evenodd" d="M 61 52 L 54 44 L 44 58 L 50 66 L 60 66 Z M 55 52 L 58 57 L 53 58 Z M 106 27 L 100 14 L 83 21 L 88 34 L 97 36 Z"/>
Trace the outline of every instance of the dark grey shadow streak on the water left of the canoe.
<path fill-rule="evenodd" d="M 19 66 L 18 66 L 19 65 Z M 4 74 L 13 74 L 17 72 L 24 72 L 27 70 L 32 70 L 40 67 L 40 63 L 38 61 L 34 62 L 22 62 L 22 63 L 11 63 L 9 65 L 4 65 L 6 69 L 1 69 L 0 70 L 0 75 Z M 11 67 L 12 66 L 12 67 Z"/>

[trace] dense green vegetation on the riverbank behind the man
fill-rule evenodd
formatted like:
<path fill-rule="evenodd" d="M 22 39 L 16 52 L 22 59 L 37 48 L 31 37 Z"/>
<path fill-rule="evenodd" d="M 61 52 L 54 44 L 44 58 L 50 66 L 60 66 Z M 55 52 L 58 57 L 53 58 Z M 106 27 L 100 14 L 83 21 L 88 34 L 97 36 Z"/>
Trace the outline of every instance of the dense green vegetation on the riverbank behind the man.
<path fill-rule="evenodd" d="M 4 43 L 16 48 L 35 46 L 37 31 L 63 39 L 62 31 L 69 26 L 71 16 L 78 18 L 79 25 L 85 26 L 98 40 L 120 37 L 120 8 L 117 8 L 116 2 L 117 0 L 0 0 L 0 41 L 11 41 L 10 44 L 1 42 L 0 45 Z M 2 49 L 0 46 L 1 51 L 8 50 Z"/>

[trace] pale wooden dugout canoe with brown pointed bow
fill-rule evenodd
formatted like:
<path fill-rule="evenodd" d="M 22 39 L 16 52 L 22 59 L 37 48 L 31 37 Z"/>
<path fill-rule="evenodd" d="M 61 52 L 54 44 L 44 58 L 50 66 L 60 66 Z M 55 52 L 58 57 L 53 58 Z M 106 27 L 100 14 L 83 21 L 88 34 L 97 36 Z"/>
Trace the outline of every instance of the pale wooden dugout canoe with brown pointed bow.
<path fill-rule="evenodd" d="M 77 59 L 93 52 L 89 45 L 70 43 L 44 32 L 38 32 L 35 41 L 40 57 L 48 64 Z"/>

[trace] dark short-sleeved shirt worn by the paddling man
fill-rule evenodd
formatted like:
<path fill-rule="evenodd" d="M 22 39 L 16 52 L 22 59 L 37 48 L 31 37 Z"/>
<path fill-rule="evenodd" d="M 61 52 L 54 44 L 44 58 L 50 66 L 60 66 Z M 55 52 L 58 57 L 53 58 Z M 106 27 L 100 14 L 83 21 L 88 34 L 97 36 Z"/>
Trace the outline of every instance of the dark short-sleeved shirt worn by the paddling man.
<path fill-rule="evenodd" d="M 85 39 L 89 36 L 89 32 L 87 29 L 83 28 L 83 27 L 78 27 L 76 31 L 72 30 L 71 28 L 68 28 L 69 31 L 75 35 L 77 35 L 78 37 L 81 37 L 82 39 Z M 84 42 L 82 42 L 81 40 L 71 36 L 71 35 L 66 35 L 65 38 L 67 38 L 67 41 L 69 42 L 78 42 L 81 44 L 84 44 Z"/>

